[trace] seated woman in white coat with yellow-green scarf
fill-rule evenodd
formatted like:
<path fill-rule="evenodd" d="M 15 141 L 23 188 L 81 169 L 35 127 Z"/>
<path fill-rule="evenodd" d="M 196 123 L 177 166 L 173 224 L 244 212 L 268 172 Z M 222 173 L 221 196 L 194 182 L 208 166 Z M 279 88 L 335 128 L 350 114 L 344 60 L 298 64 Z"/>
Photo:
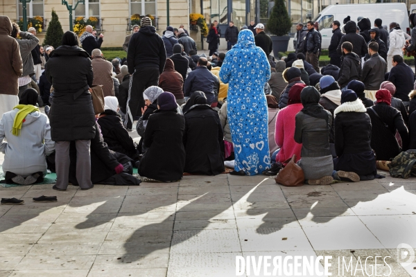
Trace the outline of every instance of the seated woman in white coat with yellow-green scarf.
<path fill-rule="evenodd" d="M 55 142 L 49 118 L 35 106 L 36 101 L 35 89 L 26 89 L 19 105 L 0 120 L 0 152 L 5 154 L 2 183 L 30 185 L 42 182 L 46 175 L 46 156 L 55 150 Z"/>

